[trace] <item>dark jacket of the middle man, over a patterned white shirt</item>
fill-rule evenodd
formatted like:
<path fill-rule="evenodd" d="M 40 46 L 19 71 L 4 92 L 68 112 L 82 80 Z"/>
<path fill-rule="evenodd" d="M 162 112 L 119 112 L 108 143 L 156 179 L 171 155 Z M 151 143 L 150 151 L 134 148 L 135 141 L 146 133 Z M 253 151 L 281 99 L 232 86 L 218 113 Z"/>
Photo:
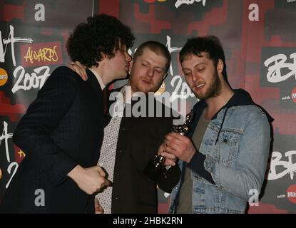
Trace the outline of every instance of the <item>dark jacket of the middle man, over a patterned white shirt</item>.
<path fill-rule="evenodd" d="M 126 104 L 126 110 L 133 108 Z M 149 107 L 146 105 L 146 116 Z M 156 106 L 156 103 L 154 103 Z M 159 105 L 159 103 L 158 103 Z M 154 106 L 154 110 L 156 110 Z M 161 104 L 165 112 L 171 112 Z M 110 119 L 110 117 L 109 117 Z M 121 126 L 118 133 L 116 148 L 116 161 L 113 174 L 112 213 L 157 213 L 158 197 L 157 185 L 143 174 L 148 161 L 157 154 L 158 147 L 163 142 L 165 135 L 170 133 L 173 118 L 170 117 L 127 117 L 123 113 Z M 179 180 L 180 170 L 178 165 L 173 167 L 168 175 L 174 175 Z M 177 182 L 158 183 L 160 188 L 170 192 Z M 163 187 L 162 187 L 163 186 Z"/>

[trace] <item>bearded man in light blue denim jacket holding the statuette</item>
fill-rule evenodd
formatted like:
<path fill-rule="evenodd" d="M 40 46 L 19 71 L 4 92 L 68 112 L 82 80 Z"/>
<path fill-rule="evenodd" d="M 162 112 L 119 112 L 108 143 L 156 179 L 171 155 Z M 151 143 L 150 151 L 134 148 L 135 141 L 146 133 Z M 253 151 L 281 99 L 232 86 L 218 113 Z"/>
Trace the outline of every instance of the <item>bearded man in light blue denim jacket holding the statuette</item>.
<path fill-rule="evenodd" d="M 182 170 L 170 213 L 244 213 L 262 187 L 272 118 L 245 90 L 230 88 L 217 37 L 188 39 L 180 63 L 200 102 L 188 137 L 170 133 L 158 150 L 165 165 L 178 158 Z"/>

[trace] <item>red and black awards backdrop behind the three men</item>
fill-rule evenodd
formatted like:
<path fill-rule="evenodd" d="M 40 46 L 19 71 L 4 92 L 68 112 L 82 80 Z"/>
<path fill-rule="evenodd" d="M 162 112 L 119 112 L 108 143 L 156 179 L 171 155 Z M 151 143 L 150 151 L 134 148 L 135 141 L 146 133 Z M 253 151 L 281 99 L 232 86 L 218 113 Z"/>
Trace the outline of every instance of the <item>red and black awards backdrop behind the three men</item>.
<path fill-rule="evenodd" d="M 101 13 L 133 28 L 131 53 L 151 39 L 168 46 L 173 62 L 162 89 L 191 106 L 178 52 L 191 36 L 220 38 L 230 84 L 275 119 L 265 187 L 258 204 L 250 192 L 248 212 L 296 213 L 295 0 L 0 0 L 0 199 L 26 153 L 11 140 L 18 121 L 53 69 L 68 64 L 68 34 Z M 164 213 L 170 197 L 158 198 Z"/>

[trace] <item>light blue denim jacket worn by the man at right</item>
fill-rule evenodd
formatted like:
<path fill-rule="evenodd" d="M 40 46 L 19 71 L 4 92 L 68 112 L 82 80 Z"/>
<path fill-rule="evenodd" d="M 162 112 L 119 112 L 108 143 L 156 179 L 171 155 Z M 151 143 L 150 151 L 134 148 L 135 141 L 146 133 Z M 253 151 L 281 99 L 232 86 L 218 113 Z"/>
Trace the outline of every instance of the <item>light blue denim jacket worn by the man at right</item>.
<path fill-rule="evenodd" d="M 269 156 L 270 123 L 257 105 L 247 103 L 220 110 L 210 120 L 200 148 L 190 161 L 193 164 L 178 162 L 181 170 L 183 165 L 193 170 L 193 213 L 244 213 L 246 202 L 254 192 L 260 193 Z M 203 161 L 200 164 L 213 182 L 195 172 L 196 160 Z M 180 182 L 182 179 L 171 193 L 170 213 L 177 206 Z"/>

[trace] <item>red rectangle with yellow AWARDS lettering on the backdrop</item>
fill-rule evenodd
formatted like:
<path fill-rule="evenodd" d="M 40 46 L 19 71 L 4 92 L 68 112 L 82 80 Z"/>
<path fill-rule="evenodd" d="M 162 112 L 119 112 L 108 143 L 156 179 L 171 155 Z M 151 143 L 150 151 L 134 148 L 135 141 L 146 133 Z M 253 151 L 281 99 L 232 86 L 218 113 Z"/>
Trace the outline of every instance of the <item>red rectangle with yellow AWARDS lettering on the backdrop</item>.
<path fill-rule="evenodd" d="M 60 42 L 21 45 L 21 65 L 24 67 L 62 63 Z"/>

